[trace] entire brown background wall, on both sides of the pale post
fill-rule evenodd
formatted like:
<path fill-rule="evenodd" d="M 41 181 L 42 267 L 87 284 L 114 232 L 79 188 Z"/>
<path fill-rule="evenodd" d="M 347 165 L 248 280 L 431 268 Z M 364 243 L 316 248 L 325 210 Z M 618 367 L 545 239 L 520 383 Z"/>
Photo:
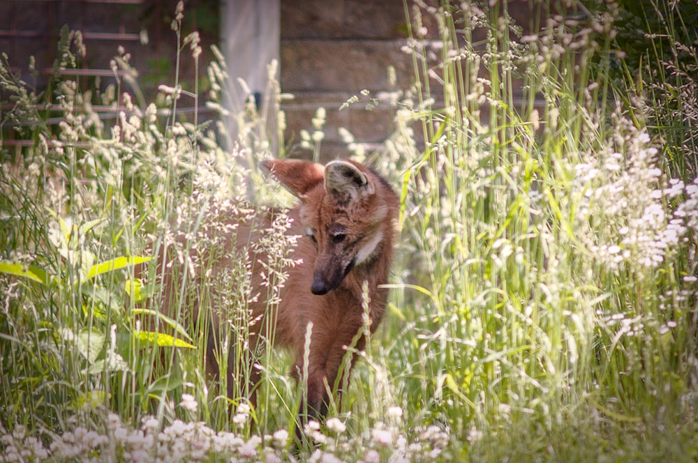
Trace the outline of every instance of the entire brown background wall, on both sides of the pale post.
<path fill-rule="evenodd" d="M 6 19 L 5 25 L 0 25 L 0 51 L 9 54 L 13 70 L 22 70 L 22 77 L 32 82 L 27 73 L 29 55 L 34 54 L 37 67 L 49 74 L 58 31 L 68 24 L 71 29 L 84 32 L 85 72 L 101 72 L 102 87 L 114 82 L 109 60 L 116 54 L 117 45 L 124 45 L 140 73 L 139 84 L 150 100 L 158 84 L 172 83 L 174 79 L 176 42 L 169 24 L 175 3 L 176 0 L 0 0 L 0 17 Z M 196 29 L 202 33 L 202 45 L 217 43 L 219 0 L 185 3 L 184 33 Z M 397 88 L 404 89 L 412 82 L 412 58 L 401 51 L 408 37 L 403 0 L 280 3 L 281 90 L 295 96 L 282 107 L 286 113 L 288 154 L 306 158 L 311 155 L 300 147 L 299 132 L 312 132 L 311 119 L 318 107 L 327 111 L 322 160 L 347 155 L 339 135 L 341 127 L 369 146 L 383 142 L 394 129 L 394 109 L 378 105 L 367 111 L 361 103 L 343 111 L 339 108 L 364 89 L 372 96 L 394 90 L 388 79 L 389 66 L 395 70 Z M 408 3 L 412 5 L 411 0 Z M 528 0 L 508 2 L 509 12 L 519 24 L 528 23 L 529 9 Z M 436 32 L 436 26 L 427 26 L 430 34 Z M 207 46 L 204 50 L 200 75 L 204 75 L 203 66 L 211 59 Z M 182 67 L 180 82 L 191 88 L 193 60 L 186 52 Z M 82 77 L 88 78 L 89 75 Z M 38 86 L 42 86 L 41 82 Z M 83 88 L 89 88 L 88 82 L 84 82 Z M 182 101 L 181 107 L 192 104 Z M 112 116 L 105 114 L 105 118 Z"/>

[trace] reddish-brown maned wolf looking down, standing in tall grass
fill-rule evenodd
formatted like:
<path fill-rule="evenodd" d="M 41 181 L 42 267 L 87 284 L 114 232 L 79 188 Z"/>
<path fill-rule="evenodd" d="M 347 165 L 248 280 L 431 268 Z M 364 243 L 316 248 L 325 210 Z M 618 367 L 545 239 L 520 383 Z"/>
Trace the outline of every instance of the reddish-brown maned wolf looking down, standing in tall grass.
<path fill-rule="evenodd" d="M 288 279 L 279 294 L 275 331 L 270 336 L 274 336 L 276 346 L 292 349 L 295 360 L 291 372 L 295 379 L 302 379 L 307 372 L 306 401 L 301 403 L 299 410 L 302 428 L 307 420 L 324 418 L 327 414 L 327 385 L 332 388 L 336 384 L 338 375 L 342 374 L 346 347 L 352 344 L 364 326 L 362 301 L 369 301 L 371 331 L 383 319 L 387 289 L 381 285 L 387 282 L 389 273 L 399 199 L 385 179 L 357 162 L 336 160 L 323 167 L 302 160 L 266 160 L 260 163 L 260 167 L 279 179 L 300 200 L 299 206 L 289 212 L 292 225 L 287 233 L 304 235 L 299 238 L 292 256 L 301 262 L 287 269 Z M 268 218 L 255 220 L 268 221 Z M 259 230 L 263 227 L 238 225 L 235 238 L 231 238 L 235 240 L 232 245 L 237 246 L 238 252 L 248 252 L 251 262 L 268 259 L 250 246 L 260 238 L 253 228 Z M 226 265 L 226 261 L 230 265 L 235 253 L 230 254 L 214 259 L 217 262 L 211 271 L 216 273 Z M 254 276 L 258 273 L 259 267 L 253 269 L 251 294 L 267 294 L 267 289 L 260 289 L 262 282 Z M 179 291 L 179 284 L 170 280 L 172 278 L 165 275 L 164 294 L 172 294 L 172 289 L 175 289 L 174 293 Z M 367 294 L 364 294 L 364 286 L 368 289 Z M 261 299 L 250 303 L 253 319 L 266 317 L 267 301 Z M 216 298 L 212 297 L 211 301 L 215 304 Z M 172 312 L 168 310 L 171 304 L 170 296 L 165 296 L 165 313 Z M 198 311 L 197 301 L 190 306 Z M 220 334 L 216 333 L 221 333 L 221 327 L 228 324 L 235 329 L 235 323 L 216 314 L 206 316 L 210 324 L 207 370 L 218 377 L 221 369 L 216 358 L 220 352 L 217 345 Z M 312 324 L 310 345 L 304 365 L 309 324 Z M 265 336 L 260 335 L 264 326 L 267 326 L 264 321 L 257 321 L 251 328 L 251 339 Z M 365 342 L 364 336 L 359 337 L 355 349 L 364 349 Z M 250 343 L 250 349 L 259 347 L 253 341 Z M 235 358 L 235 355 L 231 353 L 228 358 Z M 232 377 L 236 369 L 230 361 L 228 364 L 228 396 L 235 398 L 232 395 L 239 379 Z M 253 378 L 253 381 L 257 379 Z M 255 401 L 253 393 L 250 399 Z"/>

